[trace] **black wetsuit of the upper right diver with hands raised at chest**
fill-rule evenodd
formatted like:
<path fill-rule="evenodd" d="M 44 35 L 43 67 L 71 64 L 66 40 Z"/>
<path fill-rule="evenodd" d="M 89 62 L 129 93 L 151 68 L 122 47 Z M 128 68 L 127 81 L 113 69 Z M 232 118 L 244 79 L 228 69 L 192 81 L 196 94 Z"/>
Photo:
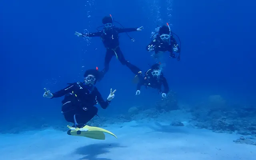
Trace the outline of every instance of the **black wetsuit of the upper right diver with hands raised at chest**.
<path fill-rule="evenodd" d="M 153 50 L 155 51 L 155 54 L 157 54 L 159 51 L 160 52 L 166 52 L 169 51 L 170 52 L 170 58 L 176 58 L 175 54 L 173 53 L 173 47 L 174 44 L 177 45 L 177 42 L 175 40 L 175 38 L 171 35 L 170 37 L 171 43 L 169 44 L 169 42 L 164 42 L 159 35 L 156 35 L 156 38 L 150 42 L 150 44 L 148 44 L 148 46 L 153 45 Z M 148 46 L 146 46 L 146 50 L 148 50 Z M 178 51 L 177 53 L 180 53 L 180 47 L 178 46 Z"/>

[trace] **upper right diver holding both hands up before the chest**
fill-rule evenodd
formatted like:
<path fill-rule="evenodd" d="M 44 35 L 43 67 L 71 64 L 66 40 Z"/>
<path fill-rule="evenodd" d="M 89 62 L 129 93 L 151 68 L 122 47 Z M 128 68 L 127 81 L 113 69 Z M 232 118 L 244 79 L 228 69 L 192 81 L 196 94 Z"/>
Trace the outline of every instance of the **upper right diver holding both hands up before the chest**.
<path fill-rule="evenodd" d="M 158 33 L 156 35 L 156 38 L 154 38 L 154 40 L 152 40 L 150 44 L 146 46 L 146 50 L 149 52 L 155 51 L 154 56 L 156 57 L 158 56 L 157 54 L 159 52 L 169 51 L 170 58 L 177 58 L 177 60 L 180 60 L 180 46 L 177 44 L 175 38 L 173 37 L 172 34 L 174 33 L 170 30 L 169 24 L 167 23 L 167 26 L 160 27 L 159 32 L 156 33 Z M 154 35 L 152 36 L 152 38 L 154 37 Z M 178 56 L 176 56 L 173 51 L 179 53 Z"/>

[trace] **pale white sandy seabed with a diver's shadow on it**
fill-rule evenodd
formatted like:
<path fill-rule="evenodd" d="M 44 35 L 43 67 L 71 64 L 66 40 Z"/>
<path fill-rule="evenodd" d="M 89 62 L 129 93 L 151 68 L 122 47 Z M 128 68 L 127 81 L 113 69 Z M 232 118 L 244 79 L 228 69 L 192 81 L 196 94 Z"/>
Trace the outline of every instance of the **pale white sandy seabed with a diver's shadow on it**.
<path fill-rule="evenodd" d="M 163 124 L 161 124 L 163 125 Z M 255 160 L 256 146 L 236 144 L 237 134 L 159 126 L 155 123 L 105 128 L 106 140 L 44 130 L 0 135 L 1 160 Z"/>

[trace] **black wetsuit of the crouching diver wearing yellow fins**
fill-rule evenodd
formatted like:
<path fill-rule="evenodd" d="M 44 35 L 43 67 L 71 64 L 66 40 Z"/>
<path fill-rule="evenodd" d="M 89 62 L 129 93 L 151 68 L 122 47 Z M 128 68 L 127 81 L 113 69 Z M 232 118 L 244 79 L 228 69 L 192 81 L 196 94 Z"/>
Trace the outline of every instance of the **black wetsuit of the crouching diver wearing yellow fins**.
<path fill-rule="evenodd" d="M 90 92 L 89 87 L 82 82 L 70 84 L 66 88 L 53 93 L 52 98 L 64 96 L 62 100 L 62 114 L 68 122 L 75 123 L 74 115 L 77 124 L 86 124 L 98 112 L 95 106 L 97 102 L 103 109 L 106 109 L 110 104 L 109 101 L 104 101 L 100 92 L 96 87 Z"/>

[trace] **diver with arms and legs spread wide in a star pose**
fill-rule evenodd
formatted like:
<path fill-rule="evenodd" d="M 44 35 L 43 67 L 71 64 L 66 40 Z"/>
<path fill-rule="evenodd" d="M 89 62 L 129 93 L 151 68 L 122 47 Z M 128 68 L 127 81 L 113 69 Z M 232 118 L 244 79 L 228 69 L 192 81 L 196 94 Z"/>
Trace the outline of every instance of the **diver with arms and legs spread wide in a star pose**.
<path fill-rule="evenodd" d="M 130 62 L 128 62 L 120 50 L 119 47 L 119 33 L 126 33 L 127 32 L 133 32 L 133 31 L 141 31 L 143 29 L 143 26 L 140 28 L 118 28 L 113 25 L 113 22 L 116 22 L 113 20 L 112 16 L 105 16 L 102 19 L 102 23 L 104 24 L 103 30 L 95 32 L 95 33 L 78 33 L 76 32 L 75 35 L 78 37 L 100 37 L 102 39 L 102 42 L 106 48 L 106 56 L 104 60 L 104 69 L 101 72 L 101 75 L 103 78 L 106 72 L 108 72 L 109 69 L 109 63 L 113 56 L 116 56 L 116 59 L 118 59 L 122 65 L 126 65 L 134 74 L 137 74 L 139 72 L 138 67 L 134 66 Z M 100 26 L 101 27 L 101 26 Z M 128 35 L 128 34 L 127 34 Z M 135 40 L 131 38 L 129 35 L 128 37 L 134 42 Z"/>

